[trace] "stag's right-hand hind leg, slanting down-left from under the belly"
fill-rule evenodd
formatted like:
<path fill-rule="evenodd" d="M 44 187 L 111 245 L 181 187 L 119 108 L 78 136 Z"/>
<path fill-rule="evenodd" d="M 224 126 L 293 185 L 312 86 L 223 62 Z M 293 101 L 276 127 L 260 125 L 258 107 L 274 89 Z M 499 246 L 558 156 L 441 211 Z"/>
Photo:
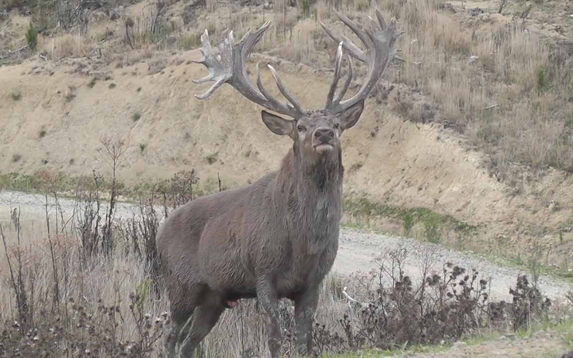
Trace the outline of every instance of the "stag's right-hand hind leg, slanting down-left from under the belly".
<path fill-rule="evenodd" d="M 191 318 L 189 332 L 181 346 L 182 357 L 193 357 L 195 348 L 211 332 L 224 310 L 225 307 L 218 296 L 212 292 L 206 294 L 205 300 L 202 300 L 201 305 L 195 308 L 193 318 Z"/>

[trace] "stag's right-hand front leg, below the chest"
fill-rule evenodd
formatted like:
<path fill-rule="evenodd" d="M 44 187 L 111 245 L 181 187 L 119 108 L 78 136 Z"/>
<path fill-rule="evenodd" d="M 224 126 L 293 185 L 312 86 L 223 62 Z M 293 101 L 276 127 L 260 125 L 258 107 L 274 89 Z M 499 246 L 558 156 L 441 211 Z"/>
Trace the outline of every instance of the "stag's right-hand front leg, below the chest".
<path fill-rule="evenodd" d="M 296 345 L 300 354 L 312 353 L 312 321 L 319 302 L 319 288 L 312 287 L 295 297 Z"/>

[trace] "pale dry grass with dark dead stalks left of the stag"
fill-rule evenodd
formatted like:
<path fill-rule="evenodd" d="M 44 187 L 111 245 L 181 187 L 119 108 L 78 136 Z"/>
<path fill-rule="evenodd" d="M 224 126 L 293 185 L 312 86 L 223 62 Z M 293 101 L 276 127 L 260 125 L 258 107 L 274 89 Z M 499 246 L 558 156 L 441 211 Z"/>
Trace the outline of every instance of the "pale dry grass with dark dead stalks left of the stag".
<path fill-rule="evenodd" d="M 97 219 L 104 196 L 99 191 L 103 179 L 94 172 L 92 186 L 78 191 L 76 208 L 83 207 L 84 213 L 74 210 L 66 218 L 65 223 L 80 224 L 66 234 L 62 227 L 68 226 L 62 226 L 57 217 L 64 218 L 67 213 L 56 210 L 53 220 L 54 211 L 48 209 L 59 207 L 58 196 L 50 194 L 58 192 L 57 176 L 46 171 L 41 177 L 46 198 L 44 233 L 48 237 L 36 241 L 22 238 L 19 215 L 11 218 L 15 233 L 0 223 L 5 251 L 1 263 L 9 268 L 2 269 L 9 273 L 2 282 L 9 284 L 2 288 L 0 299 L 0 319 L 5 324 L 0 355 L 150 356 L 156 352 L 166 318 L 160 316 L 166 307 L 155 285 L 154 234 L 160 219 L 155 208 L 142 200 L 140 216 L 134 217 L 131 225 L 114 221 L 110 231 L 114 243 L 108 246 L 109 251 L 103 251 L 101 239 L 107 233 L 107 222 Z M 83 183 L 89 182 L 84 179 Z M 139 236 L 121 241 L 121 234 L 130 228 Z"/>

